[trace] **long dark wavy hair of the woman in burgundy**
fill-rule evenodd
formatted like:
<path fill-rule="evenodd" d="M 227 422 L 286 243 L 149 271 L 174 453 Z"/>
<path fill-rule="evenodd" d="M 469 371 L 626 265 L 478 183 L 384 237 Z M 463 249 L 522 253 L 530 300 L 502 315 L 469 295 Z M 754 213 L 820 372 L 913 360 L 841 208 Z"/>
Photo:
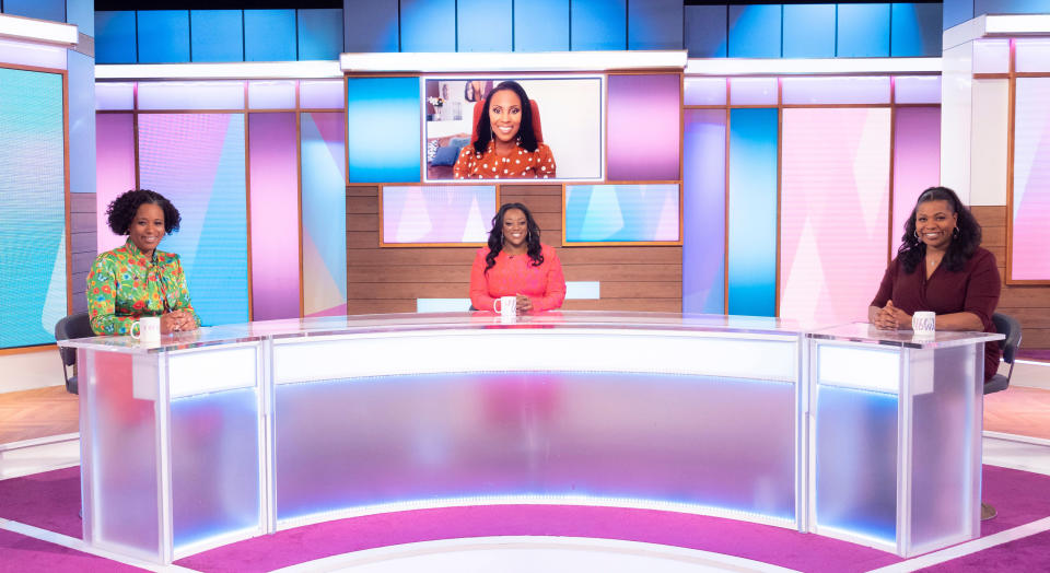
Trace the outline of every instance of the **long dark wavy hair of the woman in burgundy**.
<path fill-rule="evenodd" d="M 959 196 L 947 187 L 930 187 L 919 195 L 915 207 L 911 214 L 905 221 L 905 234 L 900 237 L 901 245 L 897 249 L 897 257 L 905 267 L 905 272 L 911 274 L 919 266 L 919 260 L 926 254 L 926 244 L 919 239 L 915 234 L 915 211 L 921 203 L 928 201 L 947 201 L 948 209 L 957 217 L 955 229 L 957 235 L 952 237 L 948 243 L 947 252 L 944 254 L 944 262 L 948 270 L 955 272 L 962 269 L 966 261 L 970 260 L 977 247 L 981 246 L 981 225 L 977 222 L 973 213 L 962 204 Z"/>

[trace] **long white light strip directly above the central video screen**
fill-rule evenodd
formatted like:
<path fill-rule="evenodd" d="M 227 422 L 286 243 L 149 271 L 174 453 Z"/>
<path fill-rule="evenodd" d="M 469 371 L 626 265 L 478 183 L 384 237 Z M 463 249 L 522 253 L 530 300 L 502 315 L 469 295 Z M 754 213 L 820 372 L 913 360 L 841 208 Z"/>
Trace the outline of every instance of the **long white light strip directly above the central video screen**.
<path fill-rule="evenodd" d="M 346 72 L 605 71 L 686 67 L 686 50 L 342 54 Z"/>

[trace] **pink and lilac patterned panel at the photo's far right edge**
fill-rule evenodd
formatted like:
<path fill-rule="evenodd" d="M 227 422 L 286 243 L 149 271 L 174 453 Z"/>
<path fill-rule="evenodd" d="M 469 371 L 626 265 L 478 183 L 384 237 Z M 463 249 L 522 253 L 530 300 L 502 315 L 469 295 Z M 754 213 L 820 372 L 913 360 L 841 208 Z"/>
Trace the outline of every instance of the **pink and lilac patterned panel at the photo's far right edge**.
<path fill-rule="evenodd" d="M 1018 78 L 1011 279 L 1050 280 L 1050 78 Z"/>

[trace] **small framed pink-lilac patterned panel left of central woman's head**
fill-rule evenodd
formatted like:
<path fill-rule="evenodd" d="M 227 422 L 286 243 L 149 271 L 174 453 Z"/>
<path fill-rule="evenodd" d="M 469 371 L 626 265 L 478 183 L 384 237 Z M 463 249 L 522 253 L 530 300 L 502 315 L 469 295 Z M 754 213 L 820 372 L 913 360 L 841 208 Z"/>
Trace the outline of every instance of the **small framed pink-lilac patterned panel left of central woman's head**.
<path fill-rule="evenodd" d="M 383 242 L 485 243 L 495 215 L 495 186 L 383 187 Z"/>

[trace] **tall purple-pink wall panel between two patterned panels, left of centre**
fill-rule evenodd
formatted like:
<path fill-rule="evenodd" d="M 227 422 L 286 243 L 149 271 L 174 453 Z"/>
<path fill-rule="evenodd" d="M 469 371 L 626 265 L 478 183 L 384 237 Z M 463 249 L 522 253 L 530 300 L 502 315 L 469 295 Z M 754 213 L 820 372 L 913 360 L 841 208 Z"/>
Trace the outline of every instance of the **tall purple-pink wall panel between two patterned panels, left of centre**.
<path fill-rule="evenodd" d="M 299 169 L 295 114 L 248 116 L 252 311 L 299 317 Z"/>

